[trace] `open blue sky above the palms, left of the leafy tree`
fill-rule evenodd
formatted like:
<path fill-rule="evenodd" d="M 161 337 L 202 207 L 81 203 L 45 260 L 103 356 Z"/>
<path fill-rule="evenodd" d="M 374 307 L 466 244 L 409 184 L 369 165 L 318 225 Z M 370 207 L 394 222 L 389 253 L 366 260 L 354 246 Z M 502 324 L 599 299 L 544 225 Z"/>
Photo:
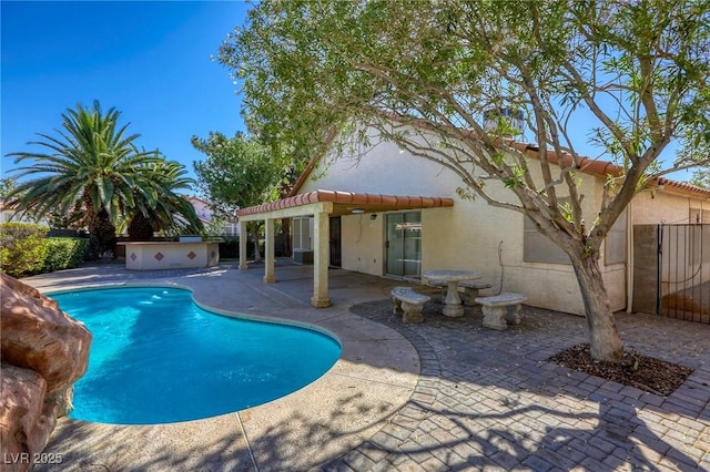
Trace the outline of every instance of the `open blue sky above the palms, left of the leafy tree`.
<path fill-rule="evenodd" d="M 139 146 L 160 148 L 194 177 L 204 154 L 193 135 L 244 131 L 237 85 L 215 61 L 222 41 L 242 25 L 242 1 L 6 1 L 2 31 L 2 177 L 6 154 L 36 133 L 55 135 L 61 114 L 94 99 L 115 106 Z"/>

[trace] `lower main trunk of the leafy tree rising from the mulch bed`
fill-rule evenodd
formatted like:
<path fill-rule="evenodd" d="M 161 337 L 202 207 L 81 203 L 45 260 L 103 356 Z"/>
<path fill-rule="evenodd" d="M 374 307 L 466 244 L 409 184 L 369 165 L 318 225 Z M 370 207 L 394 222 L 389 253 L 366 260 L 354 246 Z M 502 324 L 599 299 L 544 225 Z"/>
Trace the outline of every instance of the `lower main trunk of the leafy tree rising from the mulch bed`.
<path fill-rule="evenodd" d="M 585 304 L 591 356 L 597 360 L 619 362 L 623 356 L 623 342 L 617 330 L 599 263 L 592 257 L 570 256 L 570 259 Z"/>

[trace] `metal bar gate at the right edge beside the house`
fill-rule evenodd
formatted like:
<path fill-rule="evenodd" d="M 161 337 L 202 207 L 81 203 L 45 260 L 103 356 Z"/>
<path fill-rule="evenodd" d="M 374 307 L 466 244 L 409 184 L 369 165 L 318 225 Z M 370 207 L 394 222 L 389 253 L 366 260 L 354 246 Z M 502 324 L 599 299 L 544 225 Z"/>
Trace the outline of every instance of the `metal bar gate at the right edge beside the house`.
<path fill-rule="evenodd" d="M 710 225 L 658 225 L 656 311 L 710 324 Z"/>

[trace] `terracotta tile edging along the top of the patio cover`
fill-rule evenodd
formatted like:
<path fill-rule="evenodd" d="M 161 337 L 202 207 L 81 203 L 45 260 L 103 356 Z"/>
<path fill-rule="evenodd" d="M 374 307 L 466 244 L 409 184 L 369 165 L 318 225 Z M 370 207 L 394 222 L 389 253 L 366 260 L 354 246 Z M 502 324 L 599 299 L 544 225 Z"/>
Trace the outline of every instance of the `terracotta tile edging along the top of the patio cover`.
<path fill-rule="evenodd" d="M 332 202 L 342 205 L 367 206 L 373 211 L 384 209 L 407 209 L 407 208 L 437 208 L 454 206 L 453 198 L 408 196 L 408 195 L 383 195 L 337 191 L 313 191 L 282 198 L 277 202 L 250 206 L 239 211 L 239 216 L 256 215 L 276 209 L 291 208 L 318 202 Z"/>

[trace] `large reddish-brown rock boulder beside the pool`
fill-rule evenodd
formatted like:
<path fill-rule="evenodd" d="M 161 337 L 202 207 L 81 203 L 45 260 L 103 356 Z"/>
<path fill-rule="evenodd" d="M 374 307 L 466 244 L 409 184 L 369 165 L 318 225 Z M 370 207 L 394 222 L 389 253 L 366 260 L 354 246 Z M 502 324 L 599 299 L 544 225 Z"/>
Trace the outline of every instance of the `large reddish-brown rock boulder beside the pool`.
<path fill-rule="evenodd" d="M 39 290 L 0 274 L 0 450 L 2 471 L 24 471 L 65 412 L 87 371 L 91 334 Z M 14 455 L 13 455 L 14 454 Z"/>

